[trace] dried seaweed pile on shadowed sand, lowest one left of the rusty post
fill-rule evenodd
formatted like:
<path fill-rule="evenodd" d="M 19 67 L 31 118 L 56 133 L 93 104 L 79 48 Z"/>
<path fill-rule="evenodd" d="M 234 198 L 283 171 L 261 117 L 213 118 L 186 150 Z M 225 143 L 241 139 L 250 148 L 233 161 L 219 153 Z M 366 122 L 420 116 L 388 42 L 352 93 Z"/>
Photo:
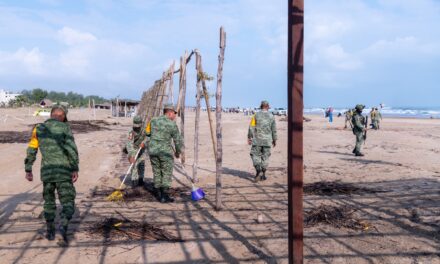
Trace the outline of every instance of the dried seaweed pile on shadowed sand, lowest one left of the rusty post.
<path fill-rule="evenodd" d="M 120 215 L 122 216 L 122 214 Z M 122 218 L 104 218 L 97 223 L 92 223 L 89 231 L 92 236 L 102 237 L 107 243 L 113 240 L 183 242 L 181 238 L 146 221 L 138 222 L 123 216 Z"/>

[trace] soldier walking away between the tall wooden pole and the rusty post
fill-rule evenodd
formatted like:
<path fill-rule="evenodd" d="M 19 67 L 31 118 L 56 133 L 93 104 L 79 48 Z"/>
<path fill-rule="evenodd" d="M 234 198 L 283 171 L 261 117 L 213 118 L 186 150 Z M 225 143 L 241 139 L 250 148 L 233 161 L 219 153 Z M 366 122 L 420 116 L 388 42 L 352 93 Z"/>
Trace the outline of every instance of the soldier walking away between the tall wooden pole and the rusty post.
<path fill-rule="evenodd" d="M 275 118 L 268 111 L 269 102 L 261 102 L 261 111 L 251 120 L 248 130 L 248 144 L 252 145 L 251 158 L 256 170 L 255 181 L 266 180 L 266 169 L 269 165 L 271 146 L 277 142 Z M 260 175 L 262 173 L 262 175 Z"/>

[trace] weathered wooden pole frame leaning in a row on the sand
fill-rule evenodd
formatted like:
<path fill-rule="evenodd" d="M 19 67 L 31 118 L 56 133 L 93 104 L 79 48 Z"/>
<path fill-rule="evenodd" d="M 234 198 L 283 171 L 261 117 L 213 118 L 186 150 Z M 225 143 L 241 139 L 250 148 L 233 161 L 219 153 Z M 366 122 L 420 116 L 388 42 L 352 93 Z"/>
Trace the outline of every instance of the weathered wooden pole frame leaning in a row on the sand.
<path fill-rule="evenodd" d="M 221 172 L 222 172 L 222 79 L 223 79 L 223 62 L 226 47 L 226 32 L 223 27 L 220 28 L 220 54 L 219 66 L 217 72 L 217 90 L 216 90 L 216 129 L 214 130 L 213 118 L 211 111 L 208 111 L 209 127 L 211 132 L 211 141 L 213 153 L 216 162 L 216 209 L 221 210 Z M 205 99 L 206 108 L 211 109 L 209 102 L 208 90 L 206 87 L 206 74 L 203 72 L 202 56 L 195 49 L 190 54 L 187 51 L 180 57 L 180 66 L 178 70 L 174 70 L 175 62 L 170 65 L 168 70 L 163 72 L 162 78 L 155 81 L 153 86 L 143 92 L 142 99 L 138 106 L 138 115 L 142 116 L 144 126 L 155 116 L 161 114 L 165 103 L 174 104 L 173 80 L 174 74 L 179 73 L 179 94 L 177 98 L 177 111 L 180 116 L 180 133 L 184 142 L 181 162 L 185 164 L 185 109 L 186 109 L 186 76 L 187 64 L 191 61 L 191 57 L 195 55 L 196 74 L 197 74 L 197 92 L 196 92 L 196 119 L 194 133 L 194 163 L 192 181 L 197 182 L 198 153 L 199 153 L 199 127 L 200 127 L 200 110 L 201 98 Z M 216 140 L 217 139 L 217 140 Z"/>

